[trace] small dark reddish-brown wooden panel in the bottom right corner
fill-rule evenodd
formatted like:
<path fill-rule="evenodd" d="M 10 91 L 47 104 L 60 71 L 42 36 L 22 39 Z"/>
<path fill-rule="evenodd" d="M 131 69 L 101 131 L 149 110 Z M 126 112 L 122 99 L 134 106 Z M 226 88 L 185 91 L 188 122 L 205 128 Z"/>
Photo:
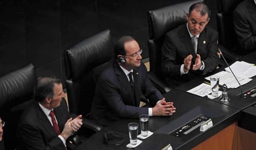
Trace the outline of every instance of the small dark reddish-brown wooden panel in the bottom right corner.
<path fill-rule="evenodd" d="M 238 127 L 238 150 L 256 149 L 256 133 Z"/>

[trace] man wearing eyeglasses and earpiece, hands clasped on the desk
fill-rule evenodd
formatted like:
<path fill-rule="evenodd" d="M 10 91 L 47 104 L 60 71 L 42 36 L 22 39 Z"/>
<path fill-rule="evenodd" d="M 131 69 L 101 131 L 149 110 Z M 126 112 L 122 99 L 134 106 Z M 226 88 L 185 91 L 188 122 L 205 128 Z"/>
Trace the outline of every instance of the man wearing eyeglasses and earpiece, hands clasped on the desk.
<path fill-rule="evenodd" d="M 173 102 L 167 102 L 147 77 L 141 54 L 133 37 L 121 37 L 114 44 L 114 61 L 99 77 L 91 107 L 91 117 L 101 125 L 109 125 L 119 118 L 139 118 L 142 114 L 175 113 Z M 142 94 L 153 107 L 139 107 Z"/>

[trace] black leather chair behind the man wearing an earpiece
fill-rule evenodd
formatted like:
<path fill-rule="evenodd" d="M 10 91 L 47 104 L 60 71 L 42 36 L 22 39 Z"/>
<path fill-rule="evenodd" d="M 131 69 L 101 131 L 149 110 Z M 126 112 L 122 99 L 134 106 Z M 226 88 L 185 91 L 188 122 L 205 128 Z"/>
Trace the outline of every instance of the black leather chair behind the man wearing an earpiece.
<path fill-rule="evenodd" d="M 112 47 L 111 32 L 104 30 L 65 51 L 66 90 L 70 112 L 87 118 L 85 121 L 90 124 L 87 127 L 95 132 L 101 130 L 102 126 L 88 120 L 89 112 L 96 81 L 114 56 Z"/>

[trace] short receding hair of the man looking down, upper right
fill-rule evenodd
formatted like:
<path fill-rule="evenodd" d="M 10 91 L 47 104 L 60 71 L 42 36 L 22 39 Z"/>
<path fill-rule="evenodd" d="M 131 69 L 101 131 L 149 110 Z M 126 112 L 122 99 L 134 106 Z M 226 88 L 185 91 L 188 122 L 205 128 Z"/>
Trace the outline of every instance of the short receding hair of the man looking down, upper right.
<path fill-rule="evenodd" d="M 205 15 L 206 13 L 208 14 L 208 18 L 211 15 L 211 11 L 209 11 L 209 8 L 204 2 L 196 2 L 190 6 L 190 9 L 188 11 L 188 15 L 196 9 L 197 12 L 200 12 L 201 15 Z"/>

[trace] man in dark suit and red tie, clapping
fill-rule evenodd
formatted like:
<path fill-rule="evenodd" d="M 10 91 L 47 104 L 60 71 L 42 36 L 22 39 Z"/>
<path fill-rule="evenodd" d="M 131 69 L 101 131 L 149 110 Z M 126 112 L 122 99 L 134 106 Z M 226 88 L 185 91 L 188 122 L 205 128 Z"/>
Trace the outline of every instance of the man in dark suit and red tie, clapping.
<path fill-rule="evenodd" d="M 62 82 L 52 77 L 42 77 L 35 88 L 35 102 L 20 118 L 19 148 L 66 149 L 66 139 L 80 129 L 81 115 L 69 118 Z"/>

